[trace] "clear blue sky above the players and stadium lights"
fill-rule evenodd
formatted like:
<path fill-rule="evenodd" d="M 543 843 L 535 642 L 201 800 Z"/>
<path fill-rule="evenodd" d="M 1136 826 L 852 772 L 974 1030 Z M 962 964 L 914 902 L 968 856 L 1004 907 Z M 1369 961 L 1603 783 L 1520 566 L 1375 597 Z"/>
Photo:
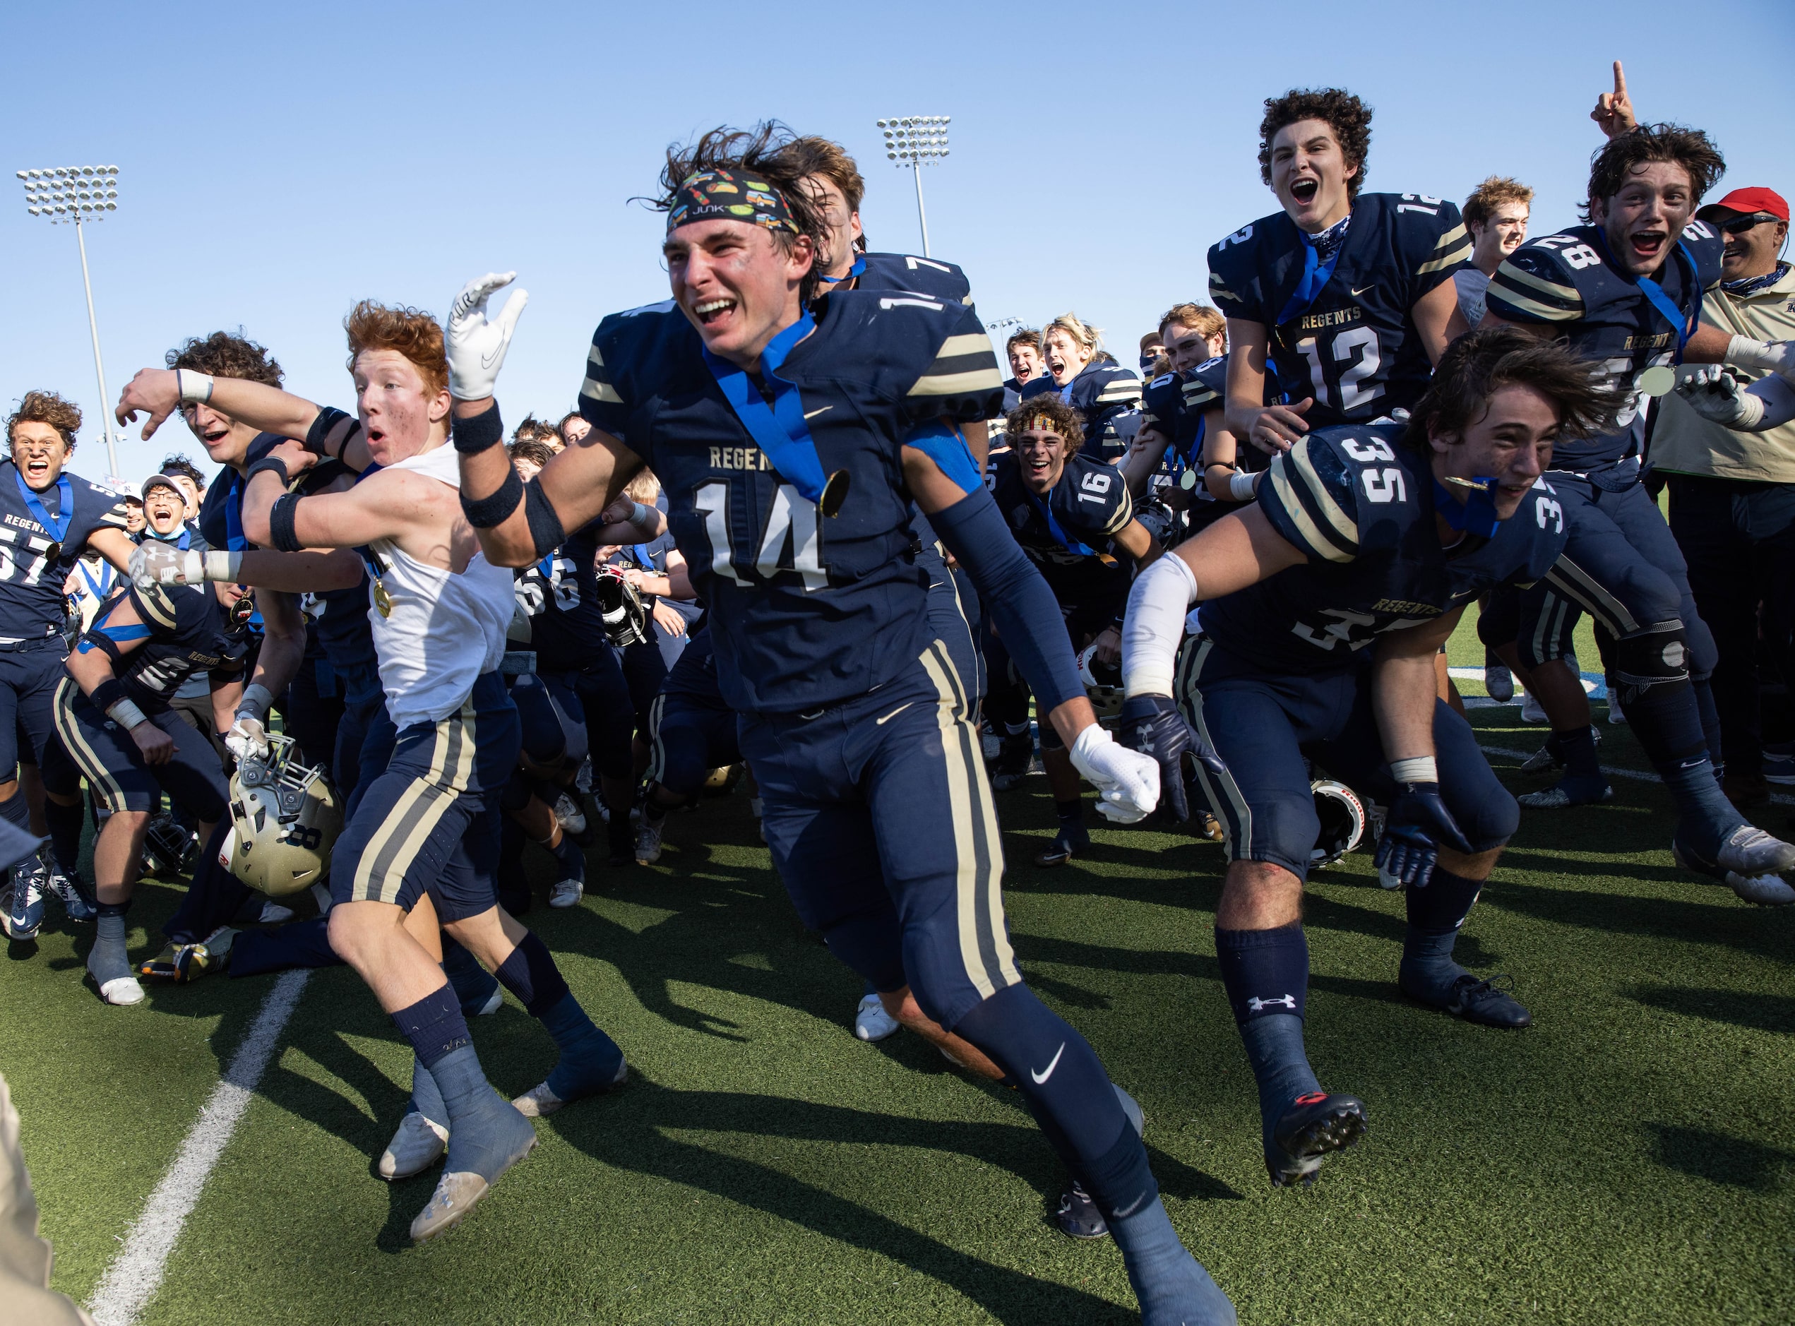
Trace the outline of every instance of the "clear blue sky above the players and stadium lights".
<path fill-rule="evenodd" d="M 183 337 L 242 327 L 291 389 L 350 406 L 341 318 L 357 298 L 442 314 L 468 276 L 515 267 L 531 301 L 499 380 L 508 422 L 569 409 L 598 319 L 664 298 L 659 217 L 628 199 L 670 140 L 722 122 L 840 140 L 867 176 L 874 248 L 919 251 L 910 176 L 872 122 L 951 115 L 951 156 L 924 172 L 935 257 L 966 267 L 987 321 L 1073 309 L 1124 362 L 1161 309 L 1203 298 L 1208 246 L 1273 210 L 1256 124 L 1291 86 L 1371 102 L 1368 188 L 1463 199 L 1513 174 L 1545 233 L 1574 221 L 1599 140 L 1585 117 L 1619 57 L 1642 115 L 1714 135 L 1721 190 L 1795 197 L 1786 5 L 1639 0 L 1607 32 L 1596 13 L 7 5 L 0 402 L 72 395 L 90 411 L 75 468 L 104 472 L 75 237 L 25 214 L 22 167 L 120 167 L 120 210 L 88 231 L 115 397 Z M 180 422 L 135 432 L 127 477 L 171 445 L 199 454 Z"/>

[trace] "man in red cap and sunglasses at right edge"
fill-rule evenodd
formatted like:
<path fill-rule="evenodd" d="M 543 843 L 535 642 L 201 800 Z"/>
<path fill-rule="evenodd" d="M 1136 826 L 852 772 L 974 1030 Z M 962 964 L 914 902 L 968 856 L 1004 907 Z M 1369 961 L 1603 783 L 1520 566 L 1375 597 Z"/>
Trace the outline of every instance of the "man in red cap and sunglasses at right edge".
<path fill-rule="evenodd" d="M 1702 318 L 1757 341 L 1795 339 L 1795 269 L 1781 260 L 1790 230 L 1782 196 L 1736 188 L 1696 217 L 1727 239 L 1721 280 L 1709 289 Z M 1714 703 L 1725 789 L 1736 806 L 1761 804 L 1766 779 L 1795 784 L 1788 698 L 1795 684 L 1795 423 L 1734 432 L 1696 414 L 1677 393 L 1662 397 L 1659 407 L 1651 467 L 1669 479 L 1671 533 L 1689 560 L 1696 608 L 1720 650 Z"/>

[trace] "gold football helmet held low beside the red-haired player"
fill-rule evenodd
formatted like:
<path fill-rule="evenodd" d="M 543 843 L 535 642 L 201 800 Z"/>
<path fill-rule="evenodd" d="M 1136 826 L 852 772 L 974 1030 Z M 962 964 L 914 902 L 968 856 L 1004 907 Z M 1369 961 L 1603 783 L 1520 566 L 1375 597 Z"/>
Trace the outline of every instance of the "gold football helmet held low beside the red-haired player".
<path fill-rule="evenodd" d="M 330 867 L 343 807 L 323 770 L 300 763 L 293 737 L 267 736 L 267 759 L 246 759 L 230 781 L 230 872 L 284 897 L 311 888 Z"/>

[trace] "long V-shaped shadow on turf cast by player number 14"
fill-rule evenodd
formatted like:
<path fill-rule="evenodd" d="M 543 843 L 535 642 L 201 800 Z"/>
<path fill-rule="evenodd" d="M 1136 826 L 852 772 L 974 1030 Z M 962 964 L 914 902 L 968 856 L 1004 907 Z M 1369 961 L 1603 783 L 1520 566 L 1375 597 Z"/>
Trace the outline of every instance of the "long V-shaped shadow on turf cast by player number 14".
<path fill-rule="evenodd" d="M 1057 1195 L 1064 1186 L 1064 1172 L 1025 1116 L 1018 1123 L 923 1120 L 749 1093 L 673 1091 L 637 1078 L 612 1100 L 553 1116 L 549 1127 L 612 1168 L 687 1184 L 826 1238 L 889 1256 L 957 1290 L 1003 1322 L 1138 1321 L 1133 1308 L 993 1265 L 799 1175 L 668 1136 L 720 1132 L 801 1143 L 914 1147 L 973 1157 L 1009 1170 L 1043 1195 L 1048 1190 Z M 1169 1156 L 1154 1152 L 1152 1168 L 1161 1190 L 1174 1197 L 1240 1199 L 1228 1184 Z M 400 1236 L 402 1226 L 390 1224 L 382 1238 L 388 1233 Z M 1115 1256 L 1109 1249 L 1104 1254 Z"/>

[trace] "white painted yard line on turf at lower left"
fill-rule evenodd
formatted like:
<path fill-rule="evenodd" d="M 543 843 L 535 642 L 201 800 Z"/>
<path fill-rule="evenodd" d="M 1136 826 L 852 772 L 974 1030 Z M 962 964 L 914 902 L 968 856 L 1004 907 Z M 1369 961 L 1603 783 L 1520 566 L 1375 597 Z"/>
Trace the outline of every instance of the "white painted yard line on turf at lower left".
<path fill-rule="evenodd" d="M 99 1326 L 135 1326 L 138 1313 L 156 1295 L 169 1254 L 181 1236 L 181 1226 L 192 1215 L 212 1166 L 224 1154 L 244 1111 L 250 1109 L 250 1096 L 262 1080 L 262 1071 L 275 1053 L 275 1041 L 287 1026 L 309 976 L 311 971 L 305 969 L 282 973 L 262 1001 L 262 1010 L 250 1025 L 250 1034 L 237 1048 L 230 1068 L 224 1069 L 224 1078 L 199 1111 L 199 1120 L 181 1143 L 174 1165 L 149 1195 L 144 1215 L 126 1234 L 124 1249 L 93 1290 L 88 1312 Z"/>

